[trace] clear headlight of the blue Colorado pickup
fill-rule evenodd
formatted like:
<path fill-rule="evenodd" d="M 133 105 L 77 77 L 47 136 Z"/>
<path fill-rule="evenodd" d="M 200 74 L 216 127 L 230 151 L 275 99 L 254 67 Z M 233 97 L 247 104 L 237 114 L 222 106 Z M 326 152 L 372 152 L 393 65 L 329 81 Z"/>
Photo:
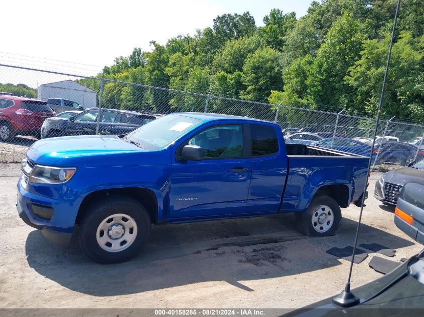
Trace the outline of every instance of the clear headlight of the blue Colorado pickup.
<path fill-rule="evenodd" d="M 75 167 L 51 167 L 36 165 L 31 171 L 30 183 L 62 184 L 75 174 Z"/>

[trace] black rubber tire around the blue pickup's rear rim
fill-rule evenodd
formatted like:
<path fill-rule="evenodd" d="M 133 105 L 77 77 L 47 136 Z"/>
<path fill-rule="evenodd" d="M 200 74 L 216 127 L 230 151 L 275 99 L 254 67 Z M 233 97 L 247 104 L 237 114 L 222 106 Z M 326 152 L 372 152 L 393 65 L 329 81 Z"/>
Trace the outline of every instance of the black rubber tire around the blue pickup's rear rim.
<path fill-rule="evenodd" d="M 327 206 L 329 209 L 324 208 L 323 210 L 318 210 L 318 207 L 320 205 Z M 323 216 L 324 218 L 319 218 L 324 220 L 324 224 L 327 223 L 325 220 L 330 221 L 328 220 L 329 218 L 327 217 L 331 215 L 333 217 L 332 222 L 330 221 L 331 225 L 324 232 L 319 232 L 321 226 L 318 221 L 315 222 L 315 225 L 313 225 L 313 221 L 312 221 L 314 215 L 315 217 L 320 216 L 320 211 L 325 214 Z M 327 215 L 326 213 L 329 213 L 329 214 Z M 342 212 L 340 210 L 339 204 L 333 197 L 327 196 L 327 195 L 320 195 L 318 197 L 314 197 L 307 211 L 296 214 L 297 229 L 301 233 L 308 236 L 335 235 L 339 232 L 341 220 L 342 220 Z M 323 229 L 325 229 L 325 227 Z"/>

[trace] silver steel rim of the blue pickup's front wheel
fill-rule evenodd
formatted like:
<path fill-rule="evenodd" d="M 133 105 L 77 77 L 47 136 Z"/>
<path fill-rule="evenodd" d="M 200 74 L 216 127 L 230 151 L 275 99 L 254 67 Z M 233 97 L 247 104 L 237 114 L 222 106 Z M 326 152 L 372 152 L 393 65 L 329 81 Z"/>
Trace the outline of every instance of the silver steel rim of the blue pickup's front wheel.
<path fill-rule="evenodd" d="M 108 252 L 120 252 L 128 248 L 137 236 L 137 224 L 130 216 L 116 213 L 105 218 L 97 227 L 98 245 Z"/>

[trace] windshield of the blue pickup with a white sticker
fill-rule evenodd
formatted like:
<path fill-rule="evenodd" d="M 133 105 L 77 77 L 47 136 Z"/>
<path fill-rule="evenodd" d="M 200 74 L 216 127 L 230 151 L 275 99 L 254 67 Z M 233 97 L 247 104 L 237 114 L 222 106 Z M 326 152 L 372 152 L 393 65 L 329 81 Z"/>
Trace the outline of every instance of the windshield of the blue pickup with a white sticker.
<path fill-rule="evenodd" d="M 183 115 L 168 115 L 128 133 L 124 140 L 133 141 L 145 150 L 155 151 L 171 144 L 201 122 Z"/>

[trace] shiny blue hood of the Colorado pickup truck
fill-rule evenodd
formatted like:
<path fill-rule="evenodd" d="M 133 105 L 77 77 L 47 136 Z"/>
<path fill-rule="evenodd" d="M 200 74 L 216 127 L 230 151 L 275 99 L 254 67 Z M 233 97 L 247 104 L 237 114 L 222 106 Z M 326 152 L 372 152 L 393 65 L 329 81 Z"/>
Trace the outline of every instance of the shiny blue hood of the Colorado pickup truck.
<path fill-rule="evenodd" d="M 39 140 L 27 150 L 27 157 L 36 164 L 52 166 L 58 163 L 58 166 L 60 166 L 62 162 L 64 164 L 76 160 L 87 162 L 93 156 L 99 159 L 99 156 L 104 155 L 139 152 L 146 151 L 116 135 L 89 135 Z M 116 161 L 111 159 L 107 161 L 116 164 Z"/>

